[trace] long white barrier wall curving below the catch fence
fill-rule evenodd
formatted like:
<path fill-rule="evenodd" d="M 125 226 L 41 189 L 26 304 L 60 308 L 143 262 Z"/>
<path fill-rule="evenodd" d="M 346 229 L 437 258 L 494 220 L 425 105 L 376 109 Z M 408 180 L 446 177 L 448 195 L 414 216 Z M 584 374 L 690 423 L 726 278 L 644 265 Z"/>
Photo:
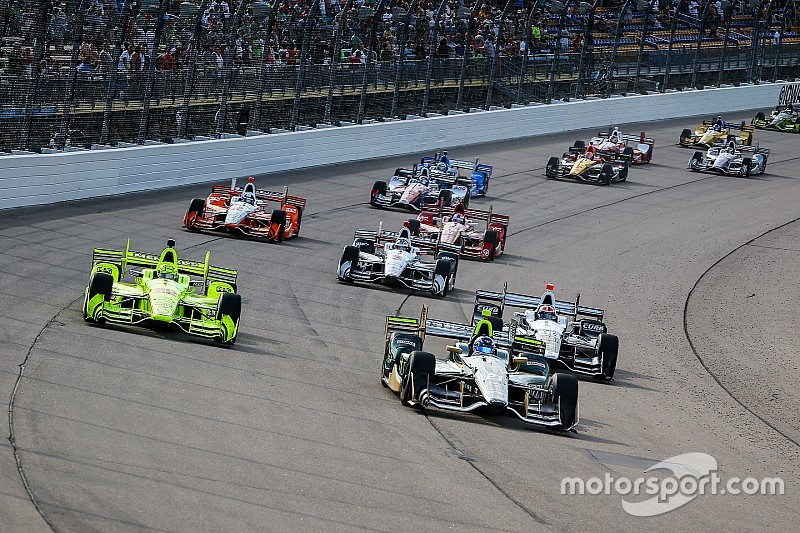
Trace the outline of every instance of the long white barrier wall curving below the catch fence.
<path fill-rule="evenodd" d="M 773 107 L 784 84 L 576 100 L 256 137 L 0 157 L 0 209 L 516 139 Z M 676 139 L 657 139 L 671 143 Z M 480 154 L 476 154 L 480 156 Z"/>

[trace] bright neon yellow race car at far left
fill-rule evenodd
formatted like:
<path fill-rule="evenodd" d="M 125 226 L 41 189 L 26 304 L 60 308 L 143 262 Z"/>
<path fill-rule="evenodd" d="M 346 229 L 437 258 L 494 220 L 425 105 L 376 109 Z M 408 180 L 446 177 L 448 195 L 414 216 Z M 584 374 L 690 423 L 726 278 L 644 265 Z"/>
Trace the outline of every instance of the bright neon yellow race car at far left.
<path fill-rule="evenodd" d="M 227 345 L 236 342 L 242 298 L 237 272 L 204 261 L 178 259 L 175 241 L 160 255 L 95 248 L 83 300 L 88 322 L 171 325 Z M 131 268 L 133 267 L 133 268 Z M 130 275 L 133 280 L 126 281 Z"/>

